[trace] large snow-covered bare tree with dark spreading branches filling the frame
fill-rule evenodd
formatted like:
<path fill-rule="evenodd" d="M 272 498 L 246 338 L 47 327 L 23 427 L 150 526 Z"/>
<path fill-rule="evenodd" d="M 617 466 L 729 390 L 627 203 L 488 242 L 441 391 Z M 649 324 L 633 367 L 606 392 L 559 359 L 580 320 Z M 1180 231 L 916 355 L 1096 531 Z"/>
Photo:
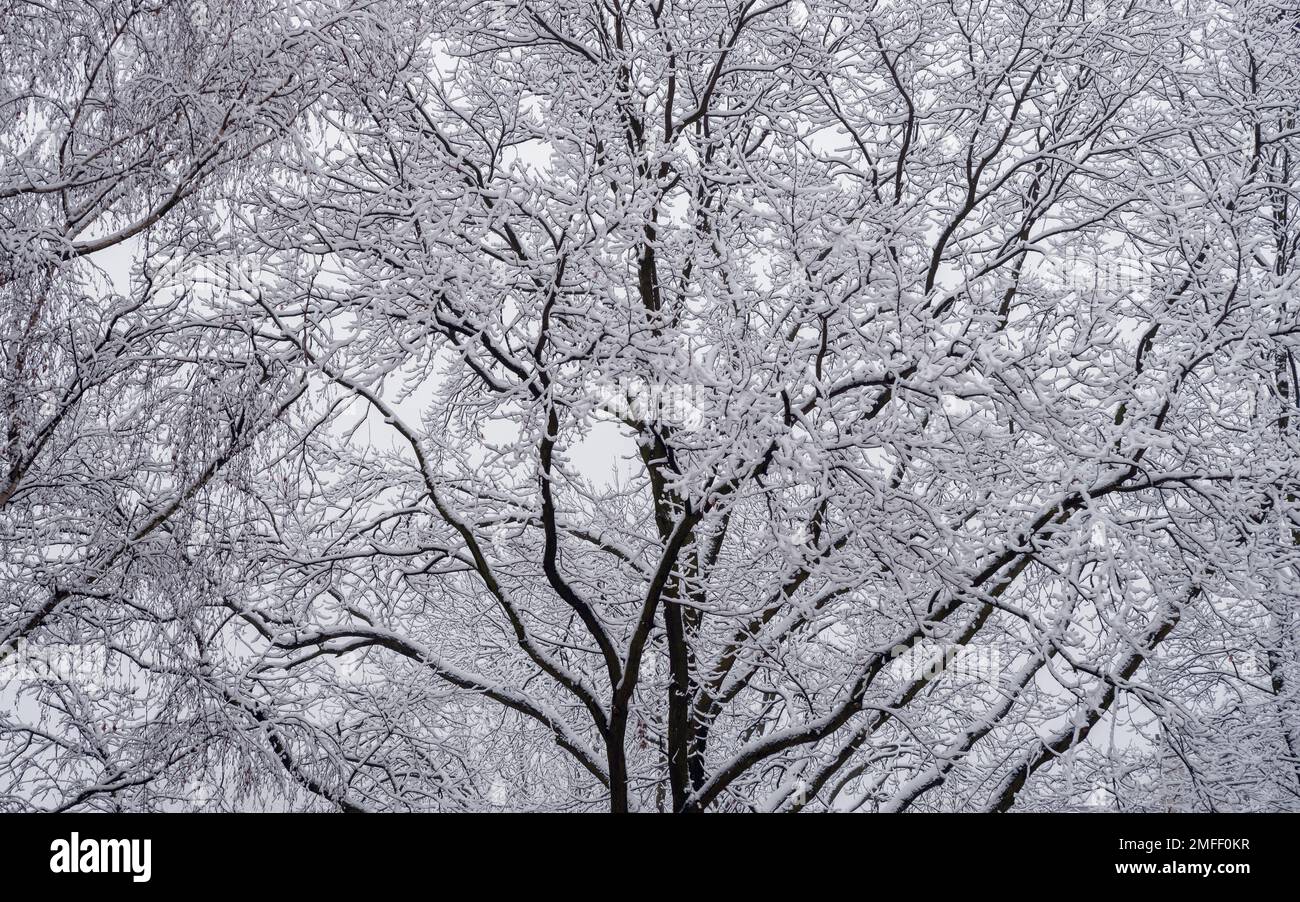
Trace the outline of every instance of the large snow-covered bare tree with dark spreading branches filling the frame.
<path fill-rule="evenodd" d="M 313 10 L 6 133 L 9 805 L 1296 807 L 1297 10 Z"/>

